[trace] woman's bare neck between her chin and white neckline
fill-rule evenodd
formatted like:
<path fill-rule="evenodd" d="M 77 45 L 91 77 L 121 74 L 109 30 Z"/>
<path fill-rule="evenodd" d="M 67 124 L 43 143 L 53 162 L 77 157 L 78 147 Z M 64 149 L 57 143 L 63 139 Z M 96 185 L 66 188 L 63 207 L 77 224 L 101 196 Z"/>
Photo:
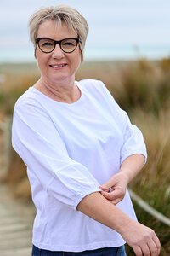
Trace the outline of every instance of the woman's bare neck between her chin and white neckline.
<path fill-rule="evenodd" d="M 41 78 L 34 87 L 57 102 L 73 103 L 77 102 L 81 96 L 81 92 L 74 79 L 66 83 L 48 84 Z"/>

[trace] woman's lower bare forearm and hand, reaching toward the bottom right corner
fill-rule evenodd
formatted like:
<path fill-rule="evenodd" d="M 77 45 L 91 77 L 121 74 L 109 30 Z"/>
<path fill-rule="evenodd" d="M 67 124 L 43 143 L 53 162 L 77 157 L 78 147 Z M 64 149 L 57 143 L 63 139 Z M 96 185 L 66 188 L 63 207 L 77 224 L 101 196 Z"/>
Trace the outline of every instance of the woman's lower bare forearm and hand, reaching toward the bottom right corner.
<path fill-rule="evenodd" d="M 120 233 L 136 255 L 159 255 L 161 245 L 155 232 L 128 218 L 99 192 L 85 196 L 77 210 Z"/>

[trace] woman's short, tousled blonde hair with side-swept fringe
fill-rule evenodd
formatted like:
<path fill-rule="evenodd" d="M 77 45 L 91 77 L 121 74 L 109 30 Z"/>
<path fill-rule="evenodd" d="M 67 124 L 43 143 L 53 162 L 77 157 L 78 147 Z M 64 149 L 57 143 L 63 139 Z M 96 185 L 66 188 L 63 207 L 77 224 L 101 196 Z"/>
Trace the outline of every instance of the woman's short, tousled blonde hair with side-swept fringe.
<path fill-rule="evenodd" d="M 77 36 L 81 41 L 80 50 L 83 60 L 83 49 L 88 36 L 87 20 L 76 9 L 67 5 L 51 6 L 37 10 L 31 15 L 29 20 L 30 38 L 35 49 L 37 48 L 36 39 L 39 26 L 45 20 L 54 20 L 54 22 L 59 25 L 65 23 L 69 29 L 77 33 Z"/>

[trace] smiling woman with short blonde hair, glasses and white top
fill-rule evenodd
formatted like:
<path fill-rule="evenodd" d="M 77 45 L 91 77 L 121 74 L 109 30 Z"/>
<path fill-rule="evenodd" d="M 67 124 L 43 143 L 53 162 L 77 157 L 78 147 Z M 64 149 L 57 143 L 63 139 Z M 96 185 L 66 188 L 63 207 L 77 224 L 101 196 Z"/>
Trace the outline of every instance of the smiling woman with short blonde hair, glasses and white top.
<path fill-rule="evenodd" d="M 41 77 L 15 104 L 12 141 L 37 208 L 32 255 L 126 255 L 125 242 L 158 255 L 127 192 L 144 166 L 142 134 L 102 82 L 75 81 L 87 21 L 68 6 L 44 8 L 30 33 Z"/>

